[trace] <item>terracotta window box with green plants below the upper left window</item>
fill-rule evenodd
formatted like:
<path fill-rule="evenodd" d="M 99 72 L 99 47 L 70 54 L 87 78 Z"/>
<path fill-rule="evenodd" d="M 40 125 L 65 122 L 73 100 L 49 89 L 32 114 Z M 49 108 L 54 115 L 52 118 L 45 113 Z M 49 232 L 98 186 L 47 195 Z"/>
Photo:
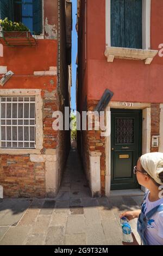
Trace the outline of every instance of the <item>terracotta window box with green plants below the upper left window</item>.
<path fill-rule="evenodd" d="M 12 22 L 8 18 L 5 18 L 4 20 L 0 20 L 0 26 L 2 27 L 2 38 L 5 45 L 33 45 L 35 42 L 29 29 L 22 22 Z"/>

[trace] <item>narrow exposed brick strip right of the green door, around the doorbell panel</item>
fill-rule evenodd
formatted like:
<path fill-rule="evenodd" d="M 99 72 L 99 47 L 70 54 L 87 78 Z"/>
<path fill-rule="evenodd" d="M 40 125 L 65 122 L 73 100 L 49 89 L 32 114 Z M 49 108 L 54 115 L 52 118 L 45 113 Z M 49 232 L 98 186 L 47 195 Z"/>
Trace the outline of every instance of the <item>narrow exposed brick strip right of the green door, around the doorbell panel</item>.
<path fill-rule="evenodd" d="M 160 135 L 160 104 L 151 104 L 151 152 L 158 152 L 159 148 L 152 148 L 152 136 Z"/>

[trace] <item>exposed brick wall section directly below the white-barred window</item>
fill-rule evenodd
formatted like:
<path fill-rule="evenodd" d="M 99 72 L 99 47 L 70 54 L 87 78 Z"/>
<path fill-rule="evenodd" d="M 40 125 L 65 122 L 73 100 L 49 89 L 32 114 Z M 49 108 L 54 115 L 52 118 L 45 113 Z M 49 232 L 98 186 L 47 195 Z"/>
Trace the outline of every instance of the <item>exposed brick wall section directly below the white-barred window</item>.
<path fill-rule="evenodd" d="M 30 162 L 29 155 L 1 155 L 0 173 L 4 197 L 45 197 L 45 163 Z"/>

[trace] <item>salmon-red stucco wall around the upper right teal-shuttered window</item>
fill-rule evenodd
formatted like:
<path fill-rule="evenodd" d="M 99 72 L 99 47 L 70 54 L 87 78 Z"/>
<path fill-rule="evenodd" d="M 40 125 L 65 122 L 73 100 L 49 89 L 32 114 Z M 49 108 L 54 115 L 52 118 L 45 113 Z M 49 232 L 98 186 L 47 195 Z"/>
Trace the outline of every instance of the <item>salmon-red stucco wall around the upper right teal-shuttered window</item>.
<path fill-rule="evenodd" d="M 163 44 L 163 1 L 152 0 L 151 49 Z M 163 57 L 151 65 L 139 60 L 115 59 L 108 63 L 105 51 L 105 0 L 87 1 L 87 77 L 83 94 L 99 100 L 106 88 L 114 92 L 113 101 L 163 102 Z"/>

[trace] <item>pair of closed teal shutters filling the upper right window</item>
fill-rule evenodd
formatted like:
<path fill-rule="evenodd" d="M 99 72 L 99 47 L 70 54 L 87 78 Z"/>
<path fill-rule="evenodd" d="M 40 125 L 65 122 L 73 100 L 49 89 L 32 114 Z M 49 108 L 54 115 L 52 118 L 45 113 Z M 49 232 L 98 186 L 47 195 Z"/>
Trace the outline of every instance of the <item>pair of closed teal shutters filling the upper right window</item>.
<path fill-rule="evenodd" d="M 111 0 L 111 46 L 142 49 L 142 0 Z"/>

